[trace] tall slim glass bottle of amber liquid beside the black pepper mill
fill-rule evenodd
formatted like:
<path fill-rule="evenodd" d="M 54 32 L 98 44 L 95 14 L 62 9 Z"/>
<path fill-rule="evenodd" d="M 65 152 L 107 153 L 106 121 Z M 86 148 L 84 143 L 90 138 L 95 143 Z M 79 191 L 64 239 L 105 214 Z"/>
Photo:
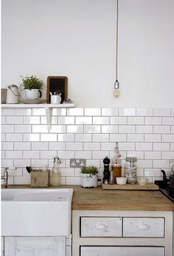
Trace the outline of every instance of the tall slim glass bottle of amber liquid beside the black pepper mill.
<path fill-rule="evenodd" d="M 116 177 L 122 176 L 122 164 L 121 164 L 121 155 L 119 154 L 119 145 L 116 141 L 116 146 L 114 148 L 114 158 L 112 159 L 111 170 L 114 176 L 114 183 L 116 183 Z"/>

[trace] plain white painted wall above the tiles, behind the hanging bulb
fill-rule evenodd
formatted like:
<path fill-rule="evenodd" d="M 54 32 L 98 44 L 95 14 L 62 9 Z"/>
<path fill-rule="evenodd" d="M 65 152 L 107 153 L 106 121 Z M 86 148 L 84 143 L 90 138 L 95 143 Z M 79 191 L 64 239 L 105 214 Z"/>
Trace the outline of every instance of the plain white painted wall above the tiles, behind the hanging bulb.
<path fill-rule="evenodd" d="M 1 84 L 66 75 L 76 107 L 173 107 L 174 1 L 2 0 Z"/>

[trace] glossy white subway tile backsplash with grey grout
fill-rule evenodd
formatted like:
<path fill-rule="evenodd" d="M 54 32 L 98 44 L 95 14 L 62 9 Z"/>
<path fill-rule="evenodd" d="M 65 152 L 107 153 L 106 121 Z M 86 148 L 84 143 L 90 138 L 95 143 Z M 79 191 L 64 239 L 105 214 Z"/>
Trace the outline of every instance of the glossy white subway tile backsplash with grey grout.
<path fill-rule="evenodd" d="M 70 158 L 85 158 L 102 176 L 102 161 L 106 155 L 113 158 L 116 141 L 122 166 L 126 156 L 137 157 L 137 176 L 154 181 L 161 178 L 161 168 L 171 172 L 174 109 L 54 108 L 50 130 L 44 108 L 3 108 L 2 114 L 1 166 L 18 167 L 10 172 L 11 183 L 30 183 L 25 166 L 52 169 L 56 155 L 62 184 L 80 184 L 80 169 L 71 169 Z"/>

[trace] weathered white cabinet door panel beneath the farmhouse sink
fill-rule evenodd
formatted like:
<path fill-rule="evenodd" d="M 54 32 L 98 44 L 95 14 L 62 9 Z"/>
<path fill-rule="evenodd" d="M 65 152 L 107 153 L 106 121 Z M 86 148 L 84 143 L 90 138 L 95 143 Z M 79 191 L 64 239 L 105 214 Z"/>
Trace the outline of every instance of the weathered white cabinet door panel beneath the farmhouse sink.
<path fill-rule="evenodd" d="M 65 238 L 5 237 L 4 256 L 65 256 Z"/>

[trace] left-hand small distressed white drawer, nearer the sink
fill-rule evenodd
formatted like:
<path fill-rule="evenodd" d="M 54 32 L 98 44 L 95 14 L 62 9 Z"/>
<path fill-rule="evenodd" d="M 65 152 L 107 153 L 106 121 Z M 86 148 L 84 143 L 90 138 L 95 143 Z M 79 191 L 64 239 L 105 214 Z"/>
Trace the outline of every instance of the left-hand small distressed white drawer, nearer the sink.
<path fill-rule="evenodd" d="M 81 217 L 81 237 L 121 237 L 122 218 Z"/>

